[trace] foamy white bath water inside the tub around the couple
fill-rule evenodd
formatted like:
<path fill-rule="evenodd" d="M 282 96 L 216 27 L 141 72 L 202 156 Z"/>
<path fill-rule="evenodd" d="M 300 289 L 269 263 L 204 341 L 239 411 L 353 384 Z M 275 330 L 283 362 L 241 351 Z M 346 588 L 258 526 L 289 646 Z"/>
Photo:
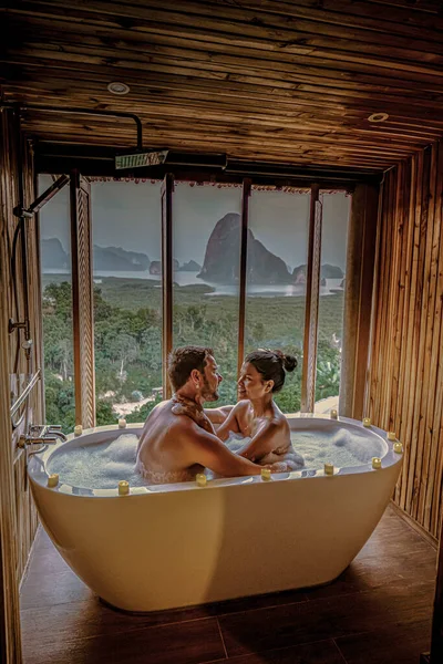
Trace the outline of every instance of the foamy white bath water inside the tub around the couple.
<path fill-rule="evenodd" d="M 322 469 L 324 463 L 337 468 L 368 464 L 374 456 L 383 455 L 383 443 L 377 438 L 368 438 L 362 433 L 350 433 L 339 428 L 336 433 L 292 432 L 292 445 L 305 458 L 305 467 Z M 48 471 L 56 473 L 60 481 L 84 489 L 112 489 L 125 479 L 133 487 L 146 486 L 147 483 L 134 473 L 138 437 L 123 434 L 111 443 L 66 448 L 50 459 Z M 233 436 L 227 443 L 235 452 L 244 440 Z"/>

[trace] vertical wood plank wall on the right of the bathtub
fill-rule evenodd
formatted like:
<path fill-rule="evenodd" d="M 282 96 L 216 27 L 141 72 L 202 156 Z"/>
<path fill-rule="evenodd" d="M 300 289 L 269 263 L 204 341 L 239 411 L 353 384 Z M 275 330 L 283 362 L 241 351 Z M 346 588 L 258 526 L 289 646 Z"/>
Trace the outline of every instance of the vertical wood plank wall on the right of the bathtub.
<path fill-rule="evenodd" d="M 368 385 L 373 423 L 405 446 L 394 500 L 439 537 L 443 473 L 443 143 L 385 174 Z"/>

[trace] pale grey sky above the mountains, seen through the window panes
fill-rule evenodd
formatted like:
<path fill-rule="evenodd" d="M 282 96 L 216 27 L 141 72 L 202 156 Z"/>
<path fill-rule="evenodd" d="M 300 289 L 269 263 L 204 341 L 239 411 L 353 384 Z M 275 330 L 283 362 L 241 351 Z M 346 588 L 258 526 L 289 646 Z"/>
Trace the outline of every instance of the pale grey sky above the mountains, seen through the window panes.
<path fill-rule="evenodd" d="M 40 176 L 40 189 L 51 184 Z M 346 231 L 350 197 L 323 196 L 322 263 L 346 266 Z M 203 264 L 210 232 L 227 212 L 240 212 L 241 189 L 176 183 L 173 199 L 174 258 Z M 269 251 L 292 269 L 306 262 L 309 196 L 253 190 L 249 228 Z M 40 214 L 41 237 L 59 238 L 69 249 L 69 188 L 60 191 Z M 92 184 L 93 242 L 161 257 L 161 183 L 95 181 Z"/>

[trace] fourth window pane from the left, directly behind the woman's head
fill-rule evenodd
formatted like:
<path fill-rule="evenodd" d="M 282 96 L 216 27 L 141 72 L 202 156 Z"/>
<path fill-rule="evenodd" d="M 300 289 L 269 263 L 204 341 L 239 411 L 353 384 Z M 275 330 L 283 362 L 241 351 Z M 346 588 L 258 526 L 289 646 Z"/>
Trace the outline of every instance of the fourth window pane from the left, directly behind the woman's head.
<path fill-rule="evenodd" d="M 300 409 L 309 193 L 257 190 L 249 200 L 245 350 L 296 355 L 276 403 Z"/>

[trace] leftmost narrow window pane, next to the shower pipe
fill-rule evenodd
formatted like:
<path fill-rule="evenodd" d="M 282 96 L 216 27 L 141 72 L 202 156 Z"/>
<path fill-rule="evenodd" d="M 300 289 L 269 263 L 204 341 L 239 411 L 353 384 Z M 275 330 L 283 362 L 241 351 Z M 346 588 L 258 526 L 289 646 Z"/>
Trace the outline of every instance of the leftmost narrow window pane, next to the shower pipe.
<path fill-rule="evenodd" d="M 52 185 L 39 176 L 39 194 Z M 44 398 L 48 424 L 75 424 L 69 186 L 40 211 Z"/>

